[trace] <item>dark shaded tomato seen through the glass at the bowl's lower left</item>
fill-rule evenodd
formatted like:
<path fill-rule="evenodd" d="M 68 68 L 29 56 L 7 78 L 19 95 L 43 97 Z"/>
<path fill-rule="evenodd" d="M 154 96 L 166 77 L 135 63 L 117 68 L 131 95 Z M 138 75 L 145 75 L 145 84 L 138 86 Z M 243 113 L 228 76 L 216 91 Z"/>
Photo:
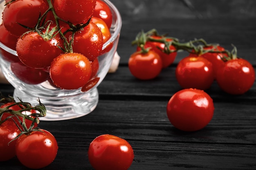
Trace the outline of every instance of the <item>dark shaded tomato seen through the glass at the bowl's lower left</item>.
<path fill-rule="evenodd" d="M 21 62 L 11 63 L 13 74 L 26 84 L 40 84 L 49 78 L 49 73 L 43 69 L 30 68 Z"/>

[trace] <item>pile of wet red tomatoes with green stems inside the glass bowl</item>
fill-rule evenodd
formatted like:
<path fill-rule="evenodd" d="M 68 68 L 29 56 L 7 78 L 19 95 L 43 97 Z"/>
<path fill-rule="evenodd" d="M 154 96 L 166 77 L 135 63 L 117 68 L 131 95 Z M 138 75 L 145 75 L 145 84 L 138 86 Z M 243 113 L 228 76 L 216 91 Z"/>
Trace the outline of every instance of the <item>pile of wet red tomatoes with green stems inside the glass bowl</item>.
<path fill-rule="evenodd" d="M 27 84 L 49 83 L 61 89 L 92 88 L 99 78 L 98 57 L 111 37 L 112 13 L 101 0 L 6 1 L 0 42 L 11 70 Z M 67 81 L 69 80 L 69 81 Z M 95 83 L 96 81 L 96 83 Z M 88 86 L 89 85 L 89 86 Z"/>

